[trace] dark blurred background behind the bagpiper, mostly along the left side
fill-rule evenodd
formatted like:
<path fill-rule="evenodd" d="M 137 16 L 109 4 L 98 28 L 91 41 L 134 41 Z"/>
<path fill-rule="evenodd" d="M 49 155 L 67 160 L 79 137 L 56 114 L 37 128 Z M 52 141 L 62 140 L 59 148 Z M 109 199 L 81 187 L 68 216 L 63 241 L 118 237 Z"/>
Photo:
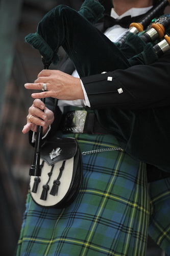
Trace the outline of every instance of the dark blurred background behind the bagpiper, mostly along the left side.
<path fill-rule="evenodd" d="M 43 69 L 38 51 L 25 43 L 44 14 L 59 4 L 80 9 L 82 0 L 0 0 L 0 254 L 14 255 L 29 187 L 33 148 L 21 133 L 32 104 L 24 84 Z M 106 11 L 109 0 L 104 0 Z M 166 12 L 169 9 L 167 8 Z M 64 51 L 60 49 L 60 57 Z M 57 67 L 51 67 L 57 69 Z M 155 251 L 155 252 L 154 252 Z M 154 253 L 154 254 L 153 254 Z M 163 252 L 149 239 L 148 256 Z"/>

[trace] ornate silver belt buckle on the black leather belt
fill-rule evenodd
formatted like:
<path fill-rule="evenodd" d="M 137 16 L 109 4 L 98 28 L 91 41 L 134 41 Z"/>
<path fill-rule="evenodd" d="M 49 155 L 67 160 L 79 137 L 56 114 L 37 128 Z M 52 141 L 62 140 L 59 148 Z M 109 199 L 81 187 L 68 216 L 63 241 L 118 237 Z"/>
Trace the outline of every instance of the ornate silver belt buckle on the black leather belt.
<path fill-rule="evenodd" d="M 83 133 L 87 111 L 76 110 L 67 112 L 63 127 L 64 133 Z"/>

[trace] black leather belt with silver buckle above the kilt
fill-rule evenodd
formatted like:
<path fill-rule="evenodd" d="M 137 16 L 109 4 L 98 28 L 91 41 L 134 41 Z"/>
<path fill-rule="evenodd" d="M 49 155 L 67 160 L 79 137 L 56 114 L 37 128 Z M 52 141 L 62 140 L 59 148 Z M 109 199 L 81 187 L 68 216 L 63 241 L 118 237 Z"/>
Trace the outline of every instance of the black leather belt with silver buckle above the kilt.
<path fill-rule="evenodd" d="M 63 133 L 109 134 L 99 124 L 95 114 L 86 110 L 69 111 L 63 115 Z"/>

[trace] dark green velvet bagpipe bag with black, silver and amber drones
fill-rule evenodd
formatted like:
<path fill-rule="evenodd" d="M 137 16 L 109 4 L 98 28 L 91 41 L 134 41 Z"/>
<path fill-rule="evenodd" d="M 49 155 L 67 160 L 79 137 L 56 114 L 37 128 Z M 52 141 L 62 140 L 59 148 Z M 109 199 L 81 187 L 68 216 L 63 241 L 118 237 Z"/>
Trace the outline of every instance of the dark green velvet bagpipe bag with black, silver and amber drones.
<path fill-rule="evenodd" d="M 111 55 L 110 58 L 114 59 L 114 62 L 116 62 L 115 59 L 119 59 L 119 63 L 115 63 L 114 67 L 111 66 L 112 69 L 109 67 L 109 71 L 122 68 L 126 69 L 135 65 L 135 63 L 140 64 L 143 62 L 143 64 L 145 64 L 144 59 L 141 60 L 141 62 L 137 62 L 138 60 L 133 62 L 131 59 L 137 58 L 137 56 L 135 56 L 136 54 L 139 54 L 138 59 L 140 59 L 139 56 L 142 54 L 142 51 L 147 51 L 147 47 L 149 47 L 151 55 L 156 51 L 156 54 L 153 54 L 155 55 L 155 58 L 157 58 L 156 55 L 158 53 L 160 56 L 162 52 L 168 49 L 169 44 L 167 37 L 165 38 L 167 43 L 163 41 L 167 47 L 162 47 L 158 44 L 157 47 L 155 46 L 152 49 L 151 44 L 145 44 L 145 42 L 155 41 L 157 37 L 160 38 L 164 36 L 165 29 L 169 26 L 170 17 L 168 15 L 163 15 L 163 17 L 160 18 L 160 22 L 157 21 L 157 23 L 152 24 L 152 28 L 140 35 L 140 37 L 135 36 L 135 34 L 144 31 L 144 29 L 151 23 L 151 20 L 155 18 L 157 14 L 161 13 L 169 2 L 169 0 L 161 1 L 147 13 L 147 16 L 142 18 L 140 23 L 132 23 L 129 30 L 117 41 L 117 44 L 112 44 L 111 42 L 110 45 L 113 48 L 112 51 L 114 52 L 114 55 Z M 77 67 L 77 60 L 80 62 L 81 59 L 82 62 L 82 59 L 84 59 L 86 54 L 90 55 L 91 59 L 92 54 L 92 58 L 97 58 L 98 60 L 96 63 L 98 63 L 99 57 L 97 54 L 99 54 L 99 49 L 103 51 L 102 44 L 104 44 L 104 49 L 106 49 L 109 40 L 106 39 L 106 36 L 104 36 L 103 33 L 92 26 L 104 16 L 103 12 L 104 7 L 97 0 L 86 0 L 78 12 L 64 5 L 57 6 L 42 18 L 38 24 L 36 33 L 29 34 L 25 39 L 33 48 L 39 50 L 43 63 L 45 63 L 45 68 L 49 67 L 51 63 L 54 65 L 57 64 L 59 60 L 57 52 L 59 47 L 62 46 L 74 62 L 80 76 L 86 76 L 89 75 L 89 73 L 95 74 L 95 72 L 98 74 L 100 70 L 92 70 L 91 72 L 88 71 L 88 74 L 84 74 L 86 73 L 86 71 L 84 72 L 86 63 L 85 65 L 82 64 L 81 67 L 79 66 L 79 68 Z M 163 20 L 161 21 L 161 19 Z M 126 42 L 124 40 L 125 38 Z M 130 47 L 129 41 L 131 42 L 131 45 L 134 45 L 133 49 Z M 100 42 L 99 48 L 98 42 Z M 79 46 L 80 43 L 82 43 L 81 46 Z M 93 47 L 93 44 L 95 47 Z M 108 47 L 110 47 L 110 45 Z M 87 50 L 85 48 L 87 48 Z M 75 49 L 79 51 L 82 49 L 79 57 L 77 57 L 79 52 L 76 52 Z M 92 52 L 94 49 L 96 50 Z M 151 55 L 146 56 L 149 62 L 155 61 L 155 59 L 151 59 Z M 91 66 L 92 62 L 90 59 L 88 59 L 89 66 Z M 107 70 L 107 67 L 105 67 L 105 70 Z"/>

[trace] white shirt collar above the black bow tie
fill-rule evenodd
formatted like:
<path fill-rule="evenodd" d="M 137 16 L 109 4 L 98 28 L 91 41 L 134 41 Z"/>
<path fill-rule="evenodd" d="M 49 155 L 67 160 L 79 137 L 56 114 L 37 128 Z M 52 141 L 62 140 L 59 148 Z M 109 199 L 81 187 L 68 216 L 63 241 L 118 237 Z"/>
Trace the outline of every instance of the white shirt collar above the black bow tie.
<path fill-rule="evenodd" d="M 145 7 L 145 8 L 131 8 L 120 16 L 118 16 L 118 14 L 115 12 L 114 8 L 112 8 L 110 15 L 113 18 L 122 18 L 122 17 L 128 16 L 128 15 L 131 15 L 132 17 L 135 17 L 135 16 L 138 16 L 138 15 L 141 15 L 141 14 L 144 14 L 144 13 L 148 12 L 151 8 L 152 8 L 152 6 Z"/>

